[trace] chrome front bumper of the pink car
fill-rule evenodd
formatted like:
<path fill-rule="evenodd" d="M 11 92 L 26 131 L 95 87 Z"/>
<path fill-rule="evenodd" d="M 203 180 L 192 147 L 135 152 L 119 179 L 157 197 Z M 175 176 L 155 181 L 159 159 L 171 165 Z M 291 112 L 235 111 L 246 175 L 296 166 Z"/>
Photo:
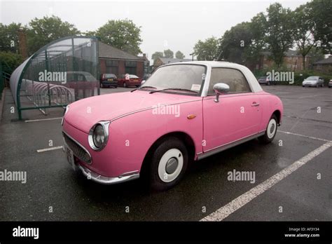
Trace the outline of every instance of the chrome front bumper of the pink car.
<path fill-rule="evenodd" d="M 120 175 L 119 177 L 106 177 L 103 175 L 99 175 L 96 172 L 93 172 L 92 170 L 89 170 L 88 168 L 85 168 L 82 165 L 78 165 L 78 168 L 81 170 L 81 172 L 85 177 L 87 177 L 88 179 L 92 179 L 92 181 L 100 184 L 118 184 L 120 182 L 127 182 L 132 179 L 139 178 L 138 171 L 125 172 L 123 175 Z M 132 173 L 132 175 L 128 175 L 130 173 Z"/>

